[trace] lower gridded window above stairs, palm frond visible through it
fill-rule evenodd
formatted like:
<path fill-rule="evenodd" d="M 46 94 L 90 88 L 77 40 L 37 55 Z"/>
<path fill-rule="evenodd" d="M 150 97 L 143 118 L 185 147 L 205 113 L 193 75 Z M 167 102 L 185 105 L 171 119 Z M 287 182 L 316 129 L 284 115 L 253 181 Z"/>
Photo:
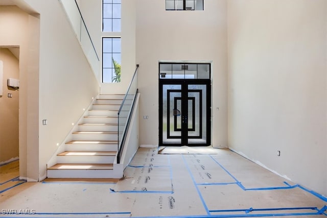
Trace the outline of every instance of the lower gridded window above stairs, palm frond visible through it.
<path fill-rule="evenodd" d="M 121 82 L 121 38 L 102 38 L 102 82 Z"/>

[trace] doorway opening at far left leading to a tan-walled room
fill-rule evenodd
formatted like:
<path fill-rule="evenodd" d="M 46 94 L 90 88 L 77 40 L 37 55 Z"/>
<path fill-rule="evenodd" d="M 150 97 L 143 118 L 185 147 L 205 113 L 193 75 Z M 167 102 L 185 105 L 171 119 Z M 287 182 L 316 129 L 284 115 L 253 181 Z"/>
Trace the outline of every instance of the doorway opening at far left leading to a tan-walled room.
<path fill-rule="evenodd" d="M 0 46 L 0 191 L 19 177 L 19 46 Z M 8 182 L 9 181 L 9 182 Z M 20 182 L 20 181 L 19 181 Z"/>

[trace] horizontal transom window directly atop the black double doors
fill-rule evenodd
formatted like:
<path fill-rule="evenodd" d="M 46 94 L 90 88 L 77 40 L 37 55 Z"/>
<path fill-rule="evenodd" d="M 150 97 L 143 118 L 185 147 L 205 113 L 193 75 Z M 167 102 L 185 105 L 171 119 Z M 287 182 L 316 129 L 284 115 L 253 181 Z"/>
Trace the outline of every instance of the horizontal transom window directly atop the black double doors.
<path fill-rule="evenodd" d="M 159 79 L 211 79 L 209 63 L 159 63 Z"/>

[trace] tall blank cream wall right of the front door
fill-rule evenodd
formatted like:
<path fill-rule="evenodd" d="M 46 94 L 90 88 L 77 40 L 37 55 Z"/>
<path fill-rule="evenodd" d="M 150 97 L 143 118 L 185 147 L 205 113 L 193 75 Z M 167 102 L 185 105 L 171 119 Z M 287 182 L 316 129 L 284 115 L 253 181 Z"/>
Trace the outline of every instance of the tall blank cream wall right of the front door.
<path fill-rule="evenodd" d="M 228 146 L 326 196 L 326 2 L 227 5 Z"/>

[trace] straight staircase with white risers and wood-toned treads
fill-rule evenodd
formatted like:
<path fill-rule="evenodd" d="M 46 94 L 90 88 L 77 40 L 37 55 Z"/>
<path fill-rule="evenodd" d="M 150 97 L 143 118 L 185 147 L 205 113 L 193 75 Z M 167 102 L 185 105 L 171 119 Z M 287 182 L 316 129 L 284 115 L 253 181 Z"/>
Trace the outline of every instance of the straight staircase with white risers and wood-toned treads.
<path fill-rule="evenodd" d="M 88 110 L 72 140 L 48 167 L 48 178 L 121 178 L 114 167 L 118 147 L 118 110 L 124 95 L 102 94 Z M 115 168 L 117 168 L 115 170 Z"/>

